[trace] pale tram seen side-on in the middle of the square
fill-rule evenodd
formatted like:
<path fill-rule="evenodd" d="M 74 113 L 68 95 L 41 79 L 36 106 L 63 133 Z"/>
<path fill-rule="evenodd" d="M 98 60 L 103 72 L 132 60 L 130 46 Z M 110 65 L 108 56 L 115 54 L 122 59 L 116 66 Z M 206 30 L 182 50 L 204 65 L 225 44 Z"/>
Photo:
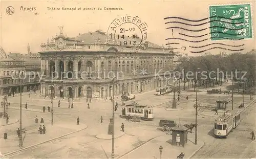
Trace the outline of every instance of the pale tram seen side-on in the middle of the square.
<path fill-rule="evenodd" d="M 137 103 L 133 104 L 126 104 L 125 106 L 121 107 L 121 118 L 127 117 L 138 117 L 141 120 L 153 120 L 154 113 L 153 108 L 147 105 L 140 105 Z"/>

